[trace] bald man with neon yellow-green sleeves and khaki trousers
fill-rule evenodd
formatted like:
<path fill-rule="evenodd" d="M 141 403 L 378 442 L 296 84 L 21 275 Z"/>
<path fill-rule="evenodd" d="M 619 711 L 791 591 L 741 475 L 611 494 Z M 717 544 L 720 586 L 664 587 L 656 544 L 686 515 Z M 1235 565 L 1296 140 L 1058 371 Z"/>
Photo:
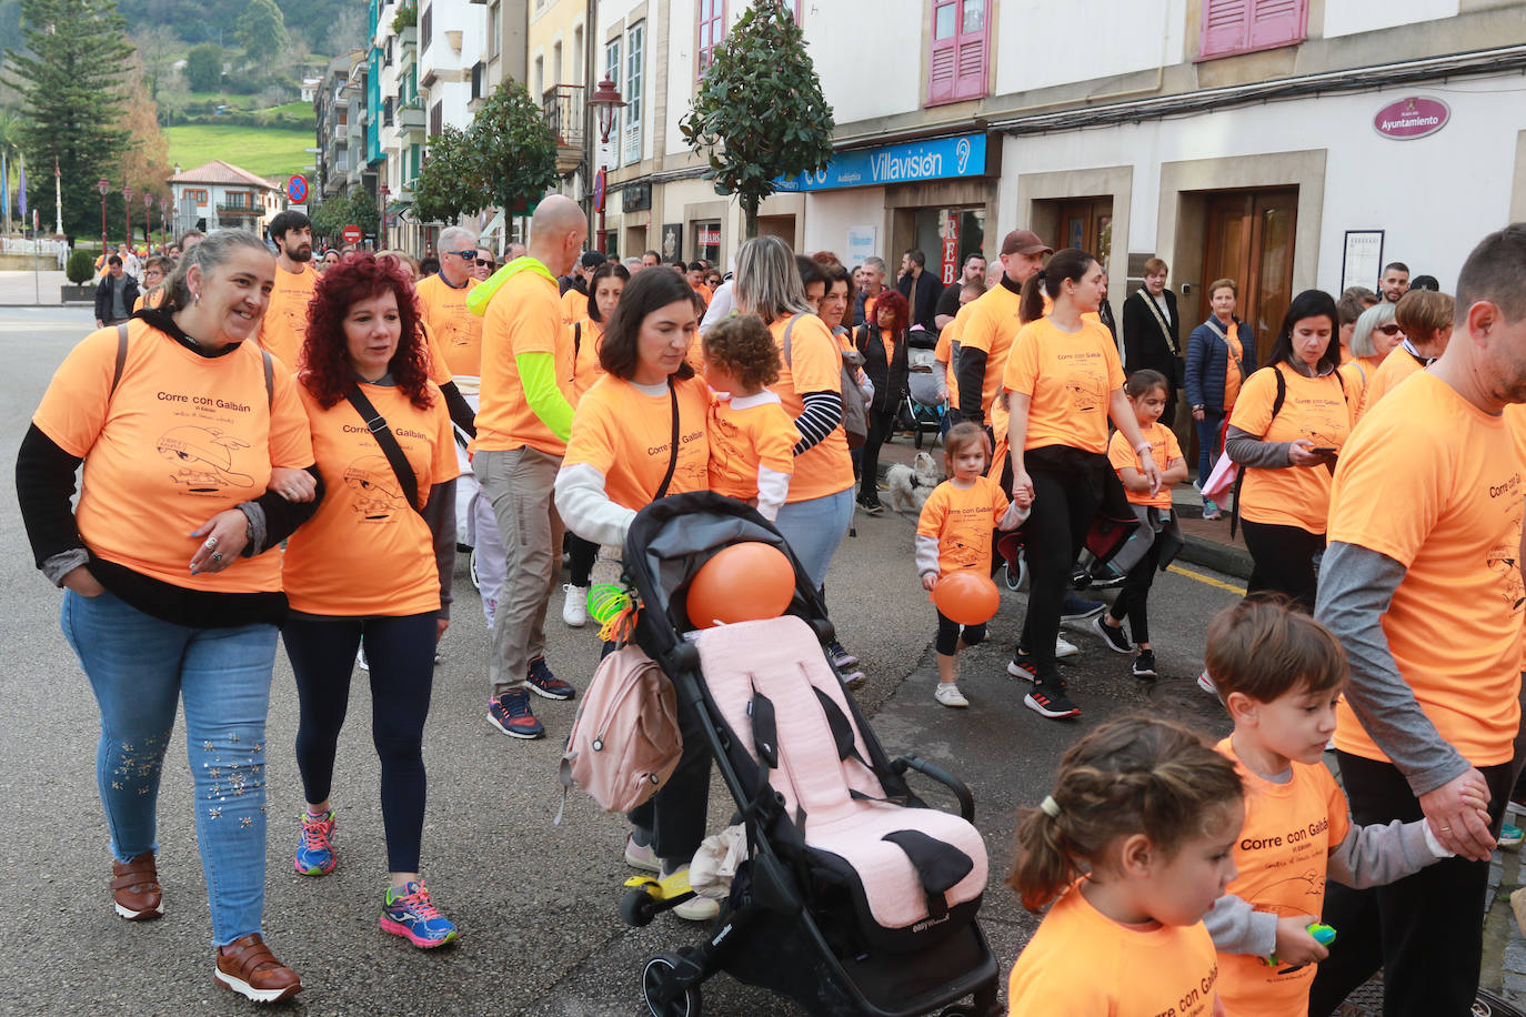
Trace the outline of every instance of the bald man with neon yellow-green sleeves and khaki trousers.
<path fill-rule="evenodd" d="M 546 604 L 562 561 L 552 488 L 572 432 L 572 329 L 562 320 L 557 276 L 572 270 L 588 220 L 571 198 L 536 206 L 525 258 L 487 306 L 482 395 L 472 471 L 493 505 L 504 541 L 504 584 L 488 654 L 488 723 L 511 738 L 545 727 L 530 694 L 569 700 L 574 688 L 546 666 Z"/>

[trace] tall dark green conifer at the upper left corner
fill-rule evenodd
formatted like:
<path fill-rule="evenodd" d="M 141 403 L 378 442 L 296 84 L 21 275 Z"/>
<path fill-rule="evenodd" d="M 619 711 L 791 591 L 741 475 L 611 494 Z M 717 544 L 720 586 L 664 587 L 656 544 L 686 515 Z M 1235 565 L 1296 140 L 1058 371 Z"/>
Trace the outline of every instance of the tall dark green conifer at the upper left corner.
<path fill-rule="evenodd" d="M 128 143 L 122 75 L 133 47 L 116 0 L 21 0 L 21 20 L 26 52 L 6 52 L 5 76 L 23 101 L 29 204 L 52 221 L 53 188 L 46 184 L 56 159 L 64 229 L 93 233 L 96 180 L 121 180 Z"/>

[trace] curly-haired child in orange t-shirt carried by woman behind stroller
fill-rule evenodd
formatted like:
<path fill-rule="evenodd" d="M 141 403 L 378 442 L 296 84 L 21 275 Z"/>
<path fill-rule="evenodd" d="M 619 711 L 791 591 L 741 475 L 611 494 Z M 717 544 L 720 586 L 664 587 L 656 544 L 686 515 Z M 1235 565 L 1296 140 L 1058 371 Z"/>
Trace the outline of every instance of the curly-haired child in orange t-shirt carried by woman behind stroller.
<path fill-rule="evenodd" d="M 748 502 L 768 521 L 789 497 L 800 432 L 778 395 L 778 348 L 751 314 L 728 317 L 702 340 L 710 407 L 710 489 Z"/>

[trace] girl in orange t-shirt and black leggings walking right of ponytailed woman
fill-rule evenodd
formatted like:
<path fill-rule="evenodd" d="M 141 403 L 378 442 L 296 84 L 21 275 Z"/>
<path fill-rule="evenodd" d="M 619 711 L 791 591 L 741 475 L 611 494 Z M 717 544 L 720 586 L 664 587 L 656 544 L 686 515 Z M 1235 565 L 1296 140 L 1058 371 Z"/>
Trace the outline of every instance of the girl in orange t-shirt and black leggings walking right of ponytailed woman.
<path fill-rule="evenodd" d="M 1149 442 L 1152 457 L 1160 464 L 1160 489 L 1149 492 L 1149 480 L 1141 473 L 1143 460 L 1129 448 L 1122 432 L 1112 432 L 1108 439 L 1108 462 L 1123 482 L 1123 489 L 1140 517 L 1141 532 L 1132 540 L 1149 538 L 1143 557 L 1128 570 L 1123 589 L 1106 614 L 1091 619 L 1093 628 L 1114 653 L 1129 653 L 1137 643 L 1140 656 L 1134 659 L 1132 674 L 1137 679 L 1155 677 L 1155 651 L 1149 642 L 1149 587 L 1160 569 L 1161 531 L 1175 517 L 1170 505 L 1170 485 L 1187 479 L 1187 460 L 1181 454 L 1177 436 L 1160 424 L 1166 410 L 1166 375 L 1158 371 L 1135 371 L 1123 386 L 1134 407 L 1134 419 L 1140 424 L 1140 436 Z M 1129 619 L 1129 634 L 1123 634 L 1123 618 Z M 1129 642 L 1132 639 L 1132 643 Z"/>

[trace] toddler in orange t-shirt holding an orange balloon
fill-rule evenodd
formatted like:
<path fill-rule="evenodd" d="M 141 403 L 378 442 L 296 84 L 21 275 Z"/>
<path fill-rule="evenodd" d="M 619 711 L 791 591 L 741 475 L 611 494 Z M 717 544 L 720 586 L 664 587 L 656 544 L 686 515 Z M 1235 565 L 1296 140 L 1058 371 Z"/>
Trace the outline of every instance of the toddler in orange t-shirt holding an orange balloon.
<path fill-rule="evenodd" d="M 990 438 L 975 422 L 966 421 L 949 428 L 943 441 L 943 464 L 952 474 L 932 488 L 917 520 L 917 573 L 922 589 L 929 593 L 951 572 L 990 575 L 990 534 L 1016 529 L 1029 517 L 1027 506 L 1007 502 L 1006 492 L 986 473 L 990 462 Z M 938 688 L 934 697 L 943 706 L 969 706 L 958 691 L 958 651 L 986 640 L 986 624 L 960 625 L 938 616 L 935 643 Z"/>

